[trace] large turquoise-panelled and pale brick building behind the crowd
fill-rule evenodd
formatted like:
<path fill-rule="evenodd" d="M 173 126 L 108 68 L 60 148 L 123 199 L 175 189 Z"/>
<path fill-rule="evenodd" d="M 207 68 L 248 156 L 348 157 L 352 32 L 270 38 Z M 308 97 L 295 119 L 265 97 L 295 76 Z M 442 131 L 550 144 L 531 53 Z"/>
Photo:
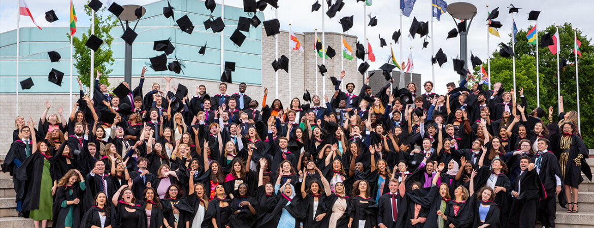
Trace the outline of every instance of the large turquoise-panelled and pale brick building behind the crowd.
<path fill-rule="evenodd" d="M 185 68 L 182 68 L 184 73 L 154 72 L 149 69 L 145 74 L 146 80 L 143 92 L 149 91 L 154 83 L 161 84 L 164 89 L 166 81 L 163 77 L 167 76 L 173 78 L 172 85 L 183 84 L 187 86 L 189 95 L 194 94 L 194 88 L 198 85 L 206 85 L 208 94 L 219 94 L 220 76 L 223 71 L 221 63 L 226 61 L 236 63 L 236 70 L 233 72 L 233 84 L 228 86 L 228 94 L 238 92 L 238 84 L 245 82 L 248 85 L 247 94 L 260 101 L 264 94 L 264 88 L 268 88 L 268 104 L 274 98 L 279 98 L 287 105 L 290 98 L 302 98 L 306 89 L 312 95 L 319 94 L 320 97 L 323 97 L 324 82 L 326 82 L 326 94 L 330 96 L 333 94 L 334 89 L 328 77 L 339 77 L 342 69 L 347 72 L 345 81 L 354 82 L 357 88 L 361 88 L 362 76 L 356 70 L 358 63 L 356 59 L 343 59 L 342 53 L 340 53 L 342 41 L 339 33 L 326 33 L 325 36 L 326 46 L 334 47 L 337 50 L 336 56 L 333 59 L 326 60 L 322 60 L 320 57 L 317 58 L 318 65 L 325 63 L 328 69 L 326 76 L 318 73 L 316 66 L 313 49 L 315 33 L 295 33 L 305 52 L 296 50 L 290 52 L 289 81 L 289 73 L 285 72 L 285 70 L 279 70 L 277 78 L 271 66 L 271 62 L 277 58 L 275 38 L 278 38 L 278 56 L 280 57 L 283 54 L 289 56 L 288 31 L 281 31 L 276 36 L 267 37 L 263 25 L 257 28 L 251 27 L 249 33 L 242 32 L 247 38 L 242 46 L 238 47 L 229 40 L 229 37 L 235 31 L 238 18 L 240 16 L 247 17 L 242 8 L 225 6 L 224 22 L 226 28 L 223 31 L 223 38 L 221 38 L 222 33 L 204 30 L 202 22 L 210 18 L 210 11 L 204 7 L 204 2 L 194 0 L 171 0 L 170 2 L 176 6 L 176 18 L 188 15 L 195 26 L 194 31 L 192 34 L 184 33 L 171 18 L 168 19 L 163 16 L 162 8 L 167 5 L 167 1 L 144 5 L 146 14 L 138 23 L 135 30 L 138 37 L 132 45 L 132 87 L 138 85 L 140 71 L 143 66 L 149 65 L 149 58 L 162 54 L 162 52 L 153 50 L 153 41 L 155 40 L 171 39 L 176 49 L 168 56 L 168 59 L 172 61 L 172 59 L 177 58 L 184 64 Z M 218 5 L 212 15 L 217 18 L 220 17 L 220 14 L 220 5 Z M 270 18 L 264 18 L 261 13 L 258 13 L 257 16 L 261 21 L 270 20 Z M 75 36 L 80 38 L 88 30 L 89 27 L 78 27 Z M 71 82 L 69 80 L 70 51 L 68 32 L 68 27 L 48 27 L 43 28 L 43 30 L 36 27 L 20 29 L 20 76 L 18 81 L 31 77 L 35 84 L 31 89 L 26 90 L 20 88 L 16 79 L 17 31 L 12 30 L 0 34 L 0 111 L 2 113 L 0 117 L 0 134 L 6 136 L 0 137 L 0 148 L 5 148 L 5 150 L 0 151 L 0 155 L 5 155 L 7 152 L 7 148 L 12 142 L 9 136 L 12 135 L 12 131 L 15 129 L 14 120 L 17 116 L 15 89 L 18 89 L 19 94 L 18 115 L 22 115 L 26 120 L 32 117 L 34 121 L 39 122 L 40 114 L 43 113 L 45 108 L 45 100 L 52 104 L 49 114 L 57 113 L 58 107 L 64 107 L 64 117 L 69 117 L 71 110 L 68 109 L 71 104 L 69 104 L 68 93 Z M 108 66 L 108 68 L 113 69 L 113 72 L 109 75 L 109 83 L 112 89 L 124 80 L 124 41 L 120 38 L 122 33 L 122 28 L 119 26 L 112 28 L 110 31 L 110 35 L 114 37 L 111 50 L 115 59 L 115 63 Z M 318 36 L 321 37 L 321 33 L 318 33 Z M 352 47 L 355 47 L 356 39 L 355 36 L 345 36 L 345 40 Z M 207 43 L 207 50 L 203 56 L 198 54 L 198 50 L 205 43 Z M 47 52 L 51 50 L 61 54 L 61 62 L 51 63 L 49 61 Z M 223 50 L 223 58 L 221 57 L 221 50 Z M 52 68 L 65 73 L 62 86 L 48 82 L 47 75 Z M 76 69 L 73 68 L 72 70 L 74 70 L 74 76 L 78 75 Z M 342 85 L 342 88 L 345 88 L 344 86 Z M 278 88 L 278 94 L 276 94 L 276 88 Z M 316 92 L 316 89 L 318 92 Z M 87 91 L 87 88 L 85 90 Z M 78 99 L 76 79 L 72 80 L 72 91 L 75 94 L 72 102 L 76 102 Z"/>

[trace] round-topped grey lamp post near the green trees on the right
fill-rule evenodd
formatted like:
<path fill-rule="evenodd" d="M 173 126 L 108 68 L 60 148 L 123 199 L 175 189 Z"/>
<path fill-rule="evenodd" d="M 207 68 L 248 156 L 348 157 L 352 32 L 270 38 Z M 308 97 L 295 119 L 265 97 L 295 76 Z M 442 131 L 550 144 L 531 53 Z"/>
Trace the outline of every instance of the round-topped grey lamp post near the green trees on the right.
<path fill-rule="evenodd" d="M 468 21 L 466 31 L 460 33 L 460 60 L 464 60 L 464 68 L 468 63 L 468 30 L 472 24 L 472 18 L 476 16 L 476 7 L 468 2 L 454 2 L 447 6 L 447 12 L 451 15 L 454 23 L 457 24 L 456 19 L 460 21 Z M 466 75 L 460 75 L 460 81 L 466 78 Z"/>

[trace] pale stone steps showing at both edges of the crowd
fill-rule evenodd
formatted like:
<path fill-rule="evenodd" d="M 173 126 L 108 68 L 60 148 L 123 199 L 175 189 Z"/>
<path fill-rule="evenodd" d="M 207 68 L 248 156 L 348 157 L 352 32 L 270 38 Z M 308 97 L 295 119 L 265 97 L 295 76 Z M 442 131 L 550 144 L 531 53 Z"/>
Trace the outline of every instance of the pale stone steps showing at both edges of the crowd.
<path fill-rule="evenodd" d="M 4 156 L 0 156 L 3 160 Z M 590 169 L 594 171 L 594 150 L 590 150 L 590 158 L 587 159 Z M 583 174 L 582 174 L 583 176 Z M 577 197 L 579 201 L 579 213 L 567 213 L 566 209 L 557 205 L 557 219 L 555 223 L 558 228 L 594 228 L 594 181 L 590 182 L 584 177 L 580 184 L 580 191 Z M 17 203 L 14 201 L 16 193 L 12 184 L 12 177 L 8 173 L 0 172 L 0 228 L 28 228 L 34 227 L 33 220 L 17 217 L 15 210 Z M 51 222 L 48 224 L 50 226 Z M 536 227 L 542 227 L 537 223 Z"/>

